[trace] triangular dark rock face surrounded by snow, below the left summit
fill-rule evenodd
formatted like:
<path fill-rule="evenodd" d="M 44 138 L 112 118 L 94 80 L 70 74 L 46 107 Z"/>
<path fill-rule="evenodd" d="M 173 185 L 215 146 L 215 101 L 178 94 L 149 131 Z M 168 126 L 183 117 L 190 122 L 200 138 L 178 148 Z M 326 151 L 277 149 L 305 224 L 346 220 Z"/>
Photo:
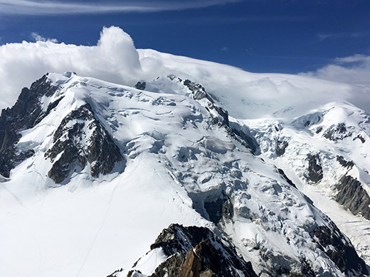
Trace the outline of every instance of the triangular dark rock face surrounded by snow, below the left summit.
<path fill-rule="evenodd" d="M 84 104 L 63 119 L 54 134 L 53 143 L 45 156 L 53 162 L 48 175 L 56 183 L 68 178 L 76 166 L 85 168 L 87 161 L 93 177 L 110 173 L 115 163 L 124 161 L 120 148 L 95 119 L 90 104 Z M 60 153 L 60 158 L 55 161 Z"/>

